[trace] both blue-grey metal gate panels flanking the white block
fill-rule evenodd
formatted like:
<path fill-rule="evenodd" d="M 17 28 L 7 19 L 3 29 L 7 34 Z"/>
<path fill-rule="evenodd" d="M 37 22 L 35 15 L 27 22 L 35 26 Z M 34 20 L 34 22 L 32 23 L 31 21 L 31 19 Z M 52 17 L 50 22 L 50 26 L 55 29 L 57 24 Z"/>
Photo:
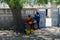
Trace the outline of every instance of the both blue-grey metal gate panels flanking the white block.
<path fill-rule="evenodd" d="M 41 15 L 41 18 L 40 18 L 40 27 L 46 27 L 46 9 L 51 9 L 51 27 L 54 26 L 54 27 L 58 27 L 58 14 L 59 14 L 59 10 L 58 8 L 40 8 L 39 10 L 39 13 Z M 49 13 L 48 13 L 49 14 Z"/>

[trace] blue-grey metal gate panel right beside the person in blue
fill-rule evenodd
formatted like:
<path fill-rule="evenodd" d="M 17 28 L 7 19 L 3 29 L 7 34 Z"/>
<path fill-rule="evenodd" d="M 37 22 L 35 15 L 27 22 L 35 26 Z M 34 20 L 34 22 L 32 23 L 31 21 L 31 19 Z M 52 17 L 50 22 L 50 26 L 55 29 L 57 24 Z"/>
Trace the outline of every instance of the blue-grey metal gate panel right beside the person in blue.
<path fill-rule="evenodd" d="M 46 9 L 44 8 L 40 8 L 39 9 L 39 13 L 40 13 L 40 22 L 39 22 L 39 26 L 40 27 L 45 27 L 46 25 Z"/>

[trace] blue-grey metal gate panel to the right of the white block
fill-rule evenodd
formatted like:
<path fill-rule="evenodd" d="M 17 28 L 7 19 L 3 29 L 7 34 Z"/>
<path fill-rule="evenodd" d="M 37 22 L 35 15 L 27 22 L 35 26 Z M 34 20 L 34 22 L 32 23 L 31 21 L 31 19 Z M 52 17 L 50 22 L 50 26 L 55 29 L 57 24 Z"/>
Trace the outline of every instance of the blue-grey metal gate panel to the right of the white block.
<path fill-rule="evenodd" d="M 58 8 L 52 8 L 52 26 L 58 26 Z"/>

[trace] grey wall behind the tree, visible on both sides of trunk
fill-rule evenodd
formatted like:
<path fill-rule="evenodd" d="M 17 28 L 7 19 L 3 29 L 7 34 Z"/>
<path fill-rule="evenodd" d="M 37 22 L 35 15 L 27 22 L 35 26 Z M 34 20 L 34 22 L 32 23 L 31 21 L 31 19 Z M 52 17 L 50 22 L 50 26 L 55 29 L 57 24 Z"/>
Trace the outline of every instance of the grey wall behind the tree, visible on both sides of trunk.
<path fill-rule="evenodd" d="M 28 14 L 36 13 L 36 9 L 29 8 L 29 9 L 22 9 L 22 18 L 26 18 Z M 33 15 L 32 15 L 33 16 Z M 10 9 L 0 9 L 0 29 L 11 29 L 14 28 L 13 25 L 13 15 Z"/>

